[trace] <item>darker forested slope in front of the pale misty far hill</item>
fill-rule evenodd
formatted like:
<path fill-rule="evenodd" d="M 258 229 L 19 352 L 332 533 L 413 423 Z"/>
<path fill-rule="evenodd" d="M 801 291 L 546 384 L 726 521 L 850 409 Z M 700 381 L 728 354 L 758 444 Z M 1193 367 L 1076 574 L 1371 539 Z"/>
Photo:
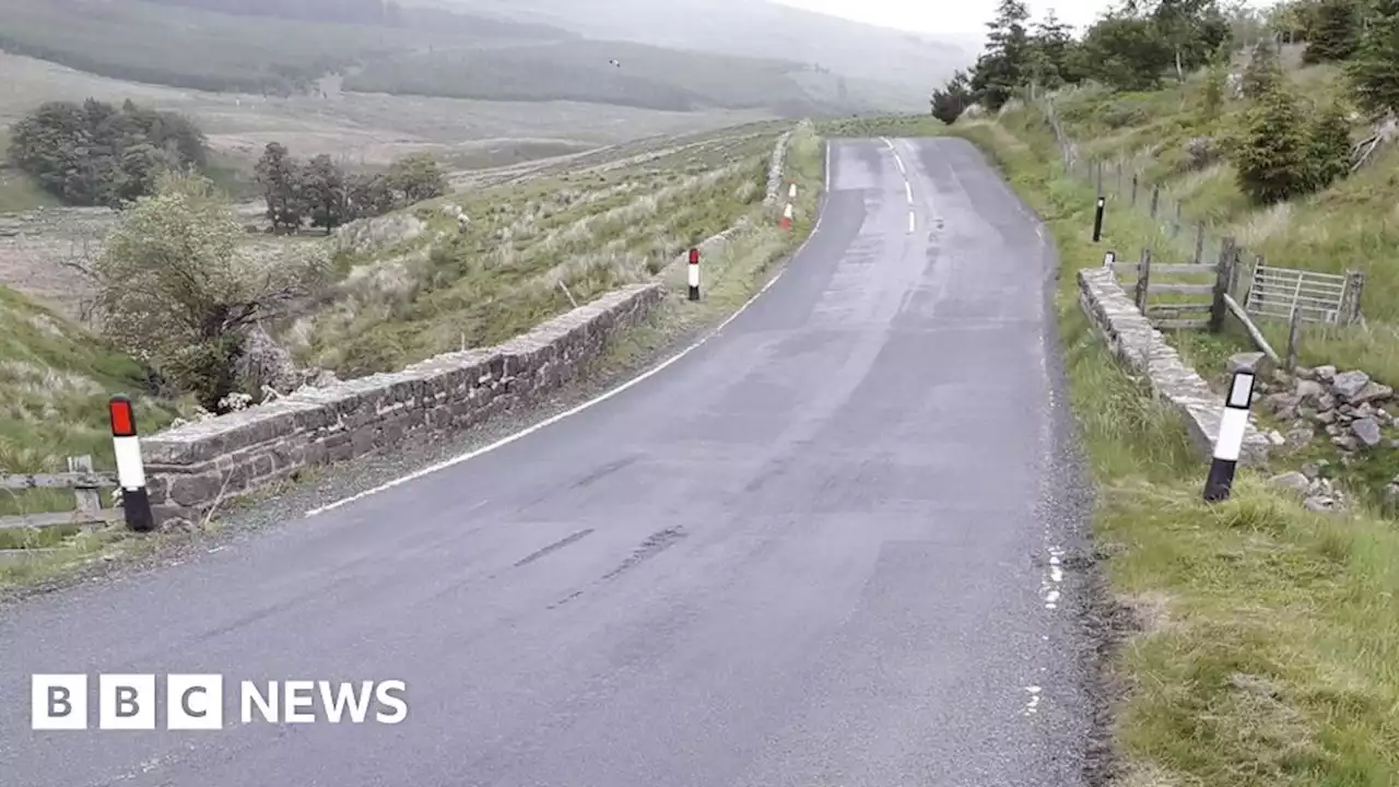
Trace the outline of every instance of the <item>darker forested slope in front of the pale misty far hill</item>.
<path fill-rule="evenodd" d="M 409 21 L 390 25 L 211 7 L 232 6 L 6 0 L 0 49 L 99 76 L 204 91 L 313 94 L 319 77 L 340 71 L 348 77 L 346 90 L 422 97 L 667 111 L 764 108 L 783 115 L 862 106 L 838 78 L 795 62 L 588 41 L 526 22 L 474 24 L 477 17 L 441 8 L 406 8 L 400 14 Z M 614 59 L 621 69 L 610 64 Z"/>

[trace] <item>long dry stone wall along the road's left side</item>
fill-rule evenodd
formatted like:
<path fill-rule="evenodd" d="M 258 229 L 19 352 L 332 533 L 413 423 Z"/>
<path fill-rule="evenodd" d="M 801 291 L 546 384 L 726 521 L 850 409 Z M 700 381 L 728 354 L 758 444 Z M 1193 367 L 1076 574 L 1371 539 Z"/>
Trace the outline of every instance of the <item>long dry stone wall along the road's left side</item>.
<path fill-rule="evenodd" d="M 788 139 L 790 133 L 774 150 L 771 193 L 782 183 Z M 702 251 L 718 251 L 746 225 L 708 238 Z M 558 391 L 597 358 L 618 330 L 646 321 L 665 298 L 663 276 L 603 295 L 495 347 L 302 388 L 145 437 L 147 492 L 158 521 L 197 517 L 218 500 L 295 478 L 308 468 L 376 452 L 410 434 L 470 429 Z"/>

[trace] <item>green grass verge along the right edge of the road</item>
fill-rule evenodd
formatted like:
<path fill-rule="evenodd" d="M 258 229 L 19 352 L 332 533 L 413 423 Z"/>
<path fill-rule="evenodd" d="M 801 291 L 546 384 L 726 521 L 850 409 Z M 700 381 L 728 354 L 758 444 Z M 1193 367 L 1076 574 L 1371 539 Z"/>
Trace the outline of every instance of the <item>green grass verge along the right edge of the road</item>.
<path fill-rule="evenodd" d="M 1101 260 L 1083 185 L 1058 178 L 1032 134 L 1009 148 L 985 123 L 953 132 L 1000 161 L 1059 245 L 1058 312 L 1098 487 L 1095 538 L 1112 592 L 1139 623 L 1114 661 L 1121 783 L 1396 783 L 1399 531 L 1365 508 L 1309 514 L 1254 472 L 1228 503 L 1202 503 L 1207 462 L 1184 424 L 1079 311 L 1073 272 Z"/>

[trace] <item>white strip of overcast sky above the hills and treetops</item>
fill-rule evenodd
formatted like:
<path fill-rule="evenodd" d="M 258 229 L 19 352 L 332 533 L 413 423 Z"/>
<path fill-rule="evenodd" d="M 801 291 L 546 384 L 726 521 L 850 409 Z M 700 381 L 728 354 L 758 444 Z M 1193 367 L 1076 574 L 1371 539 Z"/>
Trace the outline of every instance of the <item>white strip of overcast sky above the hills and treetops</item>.
<path fill-rule="evenodd" d="M 933 34 L 981 36 L 996 15 L 997 0 L 775 0 L 809 11 L 820 11 L 860 22 Z M 1030 14 L 1039 18 L 1049 8 L 1072 25 L 1088 25 L 1112 3 L 1109 0 L 1028 0 Z"/>

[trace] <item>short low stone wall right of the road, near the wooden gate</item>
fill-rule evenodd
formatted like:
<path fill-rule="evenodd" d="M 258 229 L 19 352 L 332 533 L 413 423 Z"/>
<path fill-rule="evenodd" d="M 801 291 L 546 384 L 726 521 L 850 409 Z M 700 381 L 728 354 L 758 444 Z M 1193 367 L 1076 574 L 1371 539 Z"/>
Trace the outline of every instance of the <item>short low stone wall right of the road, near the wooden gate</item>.
<path fill-rule="evenodd" d="M 1185 417 L 1191 438 L 1206 455 L 1213 452 L 1223 396 L 1210 389 L 1160 330 L 1151 328 L 1111 269 L 1088 267 L 1079 272 L 1079 304 L 1107 339 L 1112 353 L 1128 368 L 1146 377 L 1157 396 L 1170 402 Z M 1267 437 L 1251 422 L 1244 434 L 1240 461 L 1260 465 L 1266 462 L 1270 445 Z"/>

